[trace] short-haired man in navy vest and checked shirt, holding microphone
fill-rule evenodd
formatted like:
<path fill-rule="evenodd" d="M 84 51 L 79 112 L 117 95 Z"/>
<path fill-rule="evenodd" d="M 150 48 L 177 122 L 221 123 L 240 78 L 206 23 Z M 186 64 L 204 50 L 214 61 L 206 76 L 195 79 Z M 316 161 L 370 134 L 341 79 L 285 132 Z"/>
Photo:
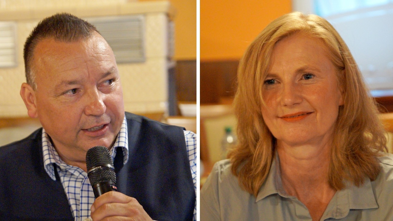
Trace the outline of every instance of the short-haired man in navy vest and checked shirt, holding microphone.
<path fill-rule="evenodd" d="M 42 128 L 1 147 L 2 220 L 195 220 L 196 135 L 124 112 L 114 54 L 94 26 L 45 18 L 24 61 L 20 95 Z M 95 199 L 85 157 L 97 145 L 114 159 L 118 192 Z"/>

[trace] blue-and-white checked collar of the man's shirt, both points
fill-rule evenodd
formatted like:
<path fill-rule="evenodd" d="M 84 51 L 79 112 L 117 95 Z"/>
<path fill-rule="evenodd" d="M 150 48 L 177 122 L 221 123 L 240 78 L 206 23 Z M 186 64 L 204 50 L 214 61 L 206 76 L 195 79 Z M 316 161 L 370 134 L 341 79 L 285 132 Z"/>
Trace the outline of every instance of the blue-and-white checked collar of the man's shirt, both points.
<path fill-rule="evenodd" d="M 120 131 L 116 138 L 114 145 L 109 150 L 110 155 L 112 156 L 112 160 L 116 157 L 116 152 L 118 147 L 121 147 L 123 151 L 123 163 L 126 164 L 128 161 L 128 130 L 127 130 L 127 120 L 124 116 L 123 123 L 121 124 Z M 42 129 L 42 153 L 44 156 L 44 168 L 46 173 L 51 177 L 51 179 L 56 180 L 55 171 L 53 168 L 53 164 L 57 164 L 61 168 L 72 167 L 67 165 L 57 153 L 56 149 L 53 147 L 51 143 L 49 135 L 45 132 L 45 129 Z"/>

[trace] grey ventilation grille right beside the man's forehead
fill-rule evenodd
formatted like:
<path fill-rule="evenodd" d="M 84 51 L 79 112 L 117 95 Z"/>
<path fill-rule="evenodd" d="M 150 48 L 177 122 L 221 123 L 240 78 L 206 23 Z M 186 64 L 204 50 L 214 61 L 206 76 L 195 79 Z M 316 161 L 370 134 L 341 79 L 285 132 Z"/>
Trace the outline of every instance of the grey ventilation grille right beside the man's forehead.
<path fill-rule="evenodd" d="M 145 61 L 143 15 L 89 18 L 108 42 L 117 63 Z"/>

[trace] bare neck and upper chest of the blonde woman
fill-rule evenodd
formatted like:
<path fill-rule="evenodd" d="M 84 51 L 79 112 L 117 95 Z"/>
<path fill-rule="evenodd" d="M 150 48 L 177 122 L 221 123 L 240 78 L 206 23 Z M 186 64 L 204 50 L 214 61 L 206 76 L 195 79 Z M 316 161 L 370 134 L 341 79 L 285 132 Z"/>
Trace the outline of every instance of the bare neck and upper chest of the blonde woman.
<path fill-rule="evenodd" d="M 330 145 L 291 147 L 277 142 L 283 188 L 319 220 L 336 193 L 329 185 Z"/>

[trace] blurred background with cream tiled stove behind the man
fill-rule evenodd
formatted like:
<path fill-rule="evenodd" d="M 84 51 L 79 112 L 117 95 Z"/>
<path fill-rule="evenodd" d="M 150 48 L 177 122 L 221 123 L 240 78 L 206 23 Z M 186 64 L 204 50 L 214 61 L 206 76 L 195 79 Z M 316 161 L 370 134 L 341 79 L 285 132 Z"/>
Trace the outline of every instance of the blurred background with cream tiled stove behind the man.
<path fill-rule="evenodd" d="M 196 132 L 196 0 L 0 0 L 0 145 L 40 127 L 19 95 L 23 45 L 60 12 L 88 20 L 110 44 L 126 111 Z"/>

